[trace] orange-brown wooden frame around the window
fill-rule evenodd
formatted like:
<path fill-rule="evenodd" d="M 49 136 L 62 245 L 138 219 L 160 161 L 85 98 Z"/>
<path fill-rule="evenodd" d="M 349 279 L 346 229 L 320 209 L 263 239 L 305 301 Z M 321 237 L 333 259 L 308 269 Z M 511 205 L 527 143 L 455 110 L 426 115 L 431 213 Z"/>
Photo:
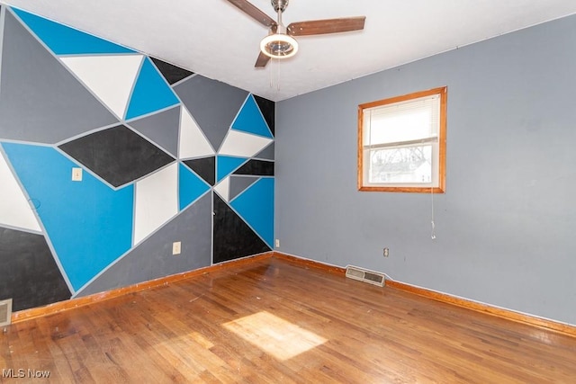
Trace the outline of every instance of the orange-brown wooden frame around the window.
<path fill-rule="evenodd" d="M 365 109 L 383 106 L 392 103 L 406 102 L 420 97 L 426 97 L 433 94 L 440 96 L 440 116 L 438 127 L 438 185 L 430 186 L 381 186 L 365 185 L 364 183 L 364 111 Z M 446 105 L 447 105 L 447 87 L 429 89 L 413 94 L 404 94 L 388 99 L 379 100 L 371 103 L 358 105 L 358 191 L 365 192 L 416 192 L 416 193 L 444 193 L 446 192 Z"/>

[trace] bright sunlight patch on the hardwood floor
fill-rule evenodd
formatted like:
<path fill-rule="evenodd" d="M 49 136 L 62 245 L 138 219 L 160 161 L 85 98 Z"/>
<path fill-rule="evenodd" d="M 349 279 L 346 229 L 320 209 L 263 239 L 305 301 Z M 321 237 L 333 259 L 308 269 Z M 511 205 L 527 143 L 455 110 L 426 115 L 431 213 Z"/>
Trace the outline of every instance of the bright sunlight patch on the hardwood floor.
<path fill-rule="evenodd" d="M 238 318 L 222 326 L 281 361 L 328 341 L 266 311 Z"/>

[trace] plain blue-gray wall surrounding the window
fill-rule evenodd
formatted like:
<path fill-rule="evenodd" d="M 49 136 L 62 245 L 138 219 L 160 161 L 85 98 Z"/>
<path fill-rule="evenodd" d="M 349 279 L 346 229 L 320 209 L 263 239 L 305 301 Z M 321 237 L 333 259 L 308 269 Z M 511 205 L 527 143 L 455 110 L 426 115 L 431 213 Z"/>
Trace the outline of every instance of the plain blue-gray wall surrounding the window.
<path fill-rule="evenodd" d="M 576 324 L 574 41 L 576 16 L 278 103 L 278 250 Z M 433 240 L 430 194 L 356 190 L 356 111 L 442 85 Z"/>

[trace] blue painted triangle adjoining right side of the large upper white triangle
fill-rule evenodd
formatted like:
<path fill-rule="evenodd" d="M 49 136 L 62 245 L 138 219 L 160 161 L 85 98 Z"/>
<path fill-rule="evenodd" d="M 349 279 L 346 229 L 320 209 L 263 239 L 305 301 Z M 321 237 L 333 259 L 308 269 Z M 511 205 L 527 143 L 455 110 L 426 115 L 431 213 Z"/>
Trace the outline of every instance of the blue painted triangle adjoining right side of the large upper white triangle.
<path fill-rule="evenodd" d="M 172 88 L 152 65 L 144 59 L 134 91 L 130 99 L 126 120 L 180 103 Z"/>

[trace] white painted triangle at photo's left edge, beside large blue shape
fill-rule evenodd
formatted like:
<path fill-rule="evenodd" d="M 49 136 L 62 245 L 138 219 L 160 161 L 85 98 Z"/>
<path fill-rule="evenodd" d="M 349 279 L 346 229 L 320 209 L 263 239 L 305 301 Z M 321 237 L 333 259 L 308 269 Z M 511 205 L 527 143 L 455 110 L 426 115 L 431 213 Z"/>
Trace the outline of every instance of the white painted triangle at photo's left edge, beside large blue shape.
<path fill-rule="evenodd" d="M 10 166 L 0 154 L 0 224 L 41 232 L 40 224 L 31 209 L 20 184 L 14 178 Z"/>

